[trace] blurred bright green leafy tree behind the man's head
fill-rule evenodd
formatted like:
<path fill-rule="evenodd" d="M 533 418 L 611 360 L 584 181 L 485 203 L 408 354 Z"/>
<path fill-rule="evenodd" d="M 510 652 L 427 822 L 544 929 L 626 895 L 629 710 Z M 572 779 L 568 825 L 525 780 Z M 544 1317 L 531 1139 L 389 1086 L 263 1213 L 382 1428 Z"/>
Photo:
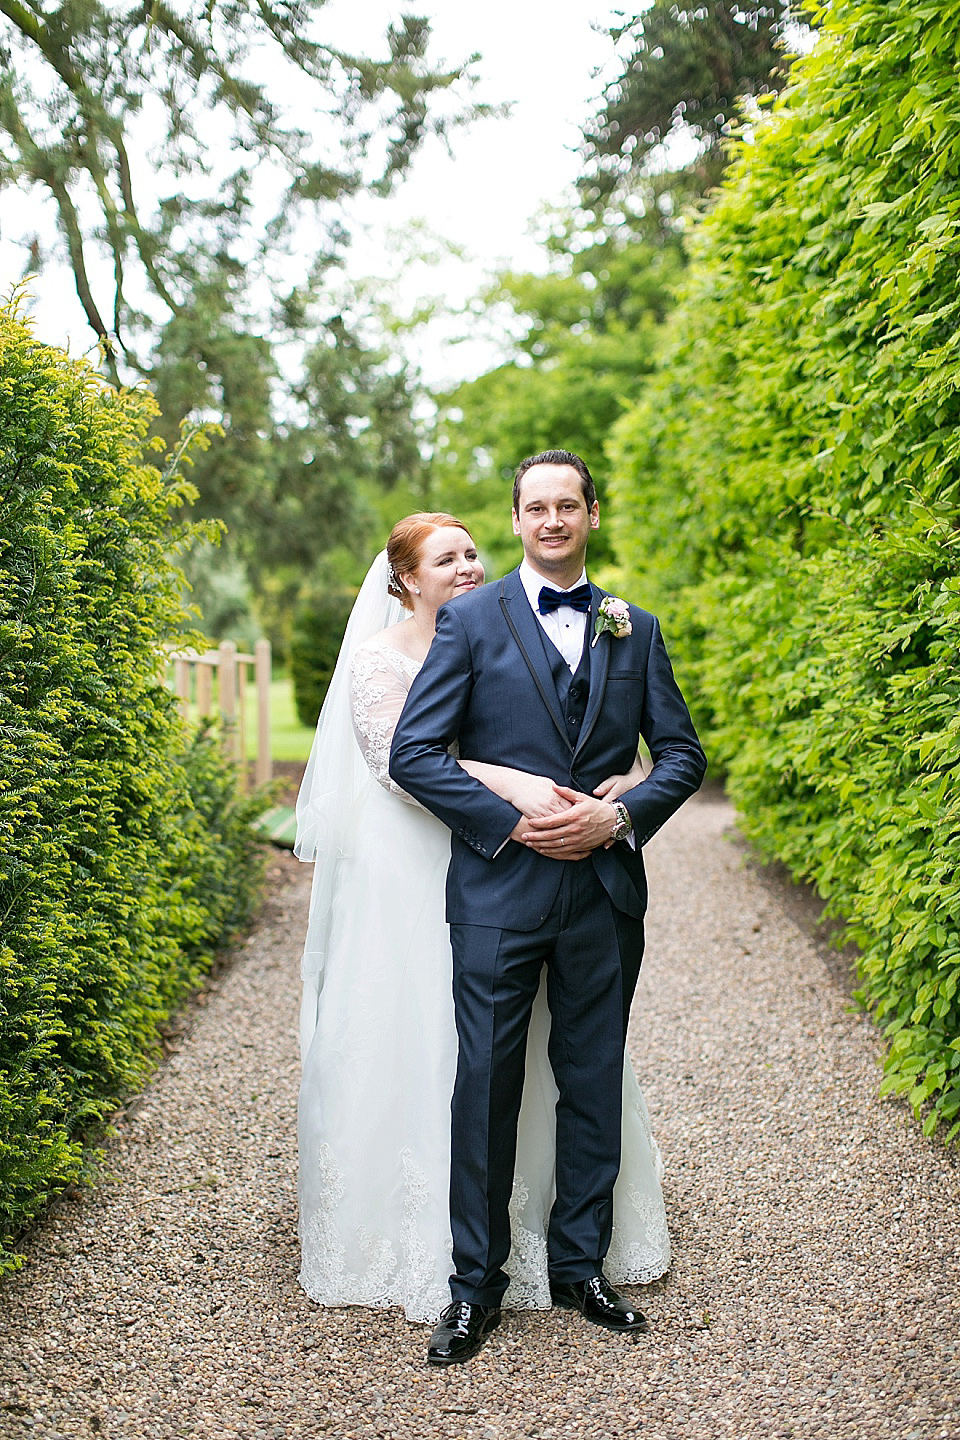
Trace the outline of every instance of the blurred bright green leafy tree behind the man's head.
<path fill-rule="evenodd" d="M 548 274 L 502 275 L 478 301 L 510 308 L 514 356 L 443 396 L 438 415 L 433 498 L 463 510 L 501 569 L 515 553 L 510 481 L 524 455 L 576 451 L 603 503 L 606 436 L 653 364 L 681 264 L 675 248 L 584 232 L 576 217 L 561 219 L 548 249 Z M 603 530 L 590 559 L 610 559 Z"/>

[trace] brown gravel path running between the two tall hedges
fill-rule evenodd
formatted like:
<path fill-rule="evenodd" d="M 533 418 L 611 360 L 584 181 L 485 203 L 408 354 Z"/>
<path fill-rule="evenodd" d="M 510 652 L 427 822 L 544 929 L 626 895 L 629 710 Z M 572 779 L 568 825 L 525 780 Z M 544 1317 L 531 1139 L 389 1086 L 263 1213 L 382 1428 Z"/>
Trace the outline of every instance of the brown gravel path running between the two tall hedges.
<path fill-rule="evenodd" d="M 879 1043 L 715 796 L 649 847 L 632 1050 L 675 1261 L 625 1341 L 512 1315 L 468 1367 L 396 1312 L 296 1286 L 296 963 L 309 871 L 275 865 L 237 962 L 0 1287 L 0 1436 L 638 1434 L 956 1440 L 960 1162 L 877 1099 Z"/>

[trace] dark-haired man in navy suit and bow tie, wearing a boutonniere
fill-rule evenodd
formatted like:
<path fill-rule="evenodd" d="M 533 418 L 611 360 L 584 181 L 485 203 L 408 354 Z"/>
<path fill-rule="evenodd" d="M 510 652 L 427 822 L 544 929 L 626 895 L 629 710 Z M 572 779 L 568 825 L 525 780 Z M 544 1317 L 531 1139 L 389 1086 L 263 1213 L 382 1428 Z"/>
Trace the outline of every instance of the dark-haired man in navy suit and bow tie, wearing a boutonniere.
<path fill-rule="evenodd" d="M 514 534 L 524 560 L 440 609 L 393 739 L 393 779 L 452 831 L 455 1273 L 427 1351 L 435 1365 L 468 1359 L 499 1323 L 527 1025 L 544 965 L 560 1092 L 550 1293 L 607 1329 L 645 1328 L 603 1276 L 643 952 L 640 847 L 698 788 L 707 762 L 656 619 L 629 606 L 625 621 L 617 605 L 604 616 L 604 592 L 587 583 L 599 523 L 579 455 L 545 451 L 520 465 Z M 620 802 L 596 799 L 602 779 L 629 770 L 640 737 L 651 775 Z M 573 804 L 524 819 L 456 763 L 455 740 L 463 759 L 550 775 Z"/>

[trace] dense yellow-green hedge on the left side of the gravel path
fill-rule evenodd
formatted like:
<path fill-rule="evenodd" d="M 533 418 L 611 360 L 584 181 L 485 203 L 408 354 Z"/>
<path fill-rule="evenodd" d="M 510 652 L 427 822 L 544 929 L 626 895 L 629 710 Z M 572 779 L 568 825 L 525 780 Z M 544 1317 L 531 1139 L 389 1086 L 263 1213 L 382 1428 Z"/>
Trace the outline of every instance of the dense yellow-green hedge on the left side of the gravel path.
<path fill-rule="evenodd" d="M 163 683 L 187 487 L 144 461 L 154 413 L 0 312 L 0 1270 L 256 894 Z"/>

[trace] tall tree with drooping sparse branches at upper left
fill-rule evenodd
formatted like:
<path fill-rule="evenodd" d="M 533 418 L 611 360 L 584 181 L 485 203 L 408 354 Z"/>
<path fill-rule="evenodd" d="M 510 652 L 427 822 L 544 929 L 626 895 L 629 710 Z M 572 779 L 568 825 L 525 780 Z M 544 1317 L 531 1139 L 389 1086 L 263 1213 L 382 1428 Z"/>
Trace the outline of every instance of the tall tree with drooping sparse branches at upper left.
<path fill-rule="evenodd" d="M 199 511 L 226 523 L 233 599 L 252 586 L 281 648 L 299 580 L 361 528 L 357 492 L 420 465 L 412 382 L 338 272 L 343 200 L 484 109 L 456 112 L 463 71 L 429 65 L 426 20 L 368 59 L 322 40 L 324 3 L 0 0 L 0 186 L 53 199 L 105 370 L 150 380 L 163 438 L 219 422 Z"/>

